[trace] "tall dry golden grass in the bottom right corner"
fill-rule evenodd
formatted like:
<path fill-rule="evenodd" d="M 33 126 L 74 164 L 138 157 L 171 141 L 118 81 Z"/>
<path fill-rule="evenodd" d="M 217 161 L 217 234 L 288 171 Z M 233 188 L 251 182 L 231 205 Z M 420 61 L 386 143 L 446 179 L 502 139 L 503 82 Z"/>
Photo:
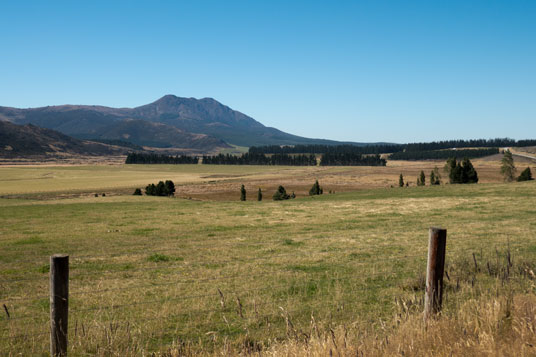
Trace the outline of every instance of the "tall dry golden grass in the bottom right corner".
<path fill-rule="evenodd" d="M 414 314 L 387 330 L 371 333 L 339 326 L 317 334 L 313 328 L 307 341 L 287 341 L 262 355 L 534 356 L 536 296 L 469 300 L 454 316 L 424 323 Z"/>

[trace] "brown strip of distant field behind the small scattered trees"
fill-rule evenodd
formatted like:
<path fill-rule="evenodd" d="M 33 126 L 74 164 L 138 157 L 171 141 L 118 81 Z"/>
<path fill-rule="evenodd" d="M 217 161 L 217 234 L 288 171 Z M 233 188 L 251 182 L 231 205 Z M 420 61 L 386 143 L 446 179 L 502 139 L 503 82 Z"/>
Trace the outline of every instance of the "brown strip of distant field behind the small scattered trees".
<path fill-rule="evenodd" d="M 497 155 L 492 160 L 479 159 L 473 163 L 478 171 L 480 183 L 499 183 L 503 181 L 500 173 L 500 160 Z M 516 162 L 518 160 L 516 159 Z M 525 160 L 523 160 L 525 161 Z M 526 160 L 530 162 L 530 160 Z M 307 196 L 314 180 L 318 179 L 325 193 L 351 192 L 374 188 L 391 188 L 398 185 L 399 175 L 415 186 L 421 170 L 428 176 L 438 167 L 443 182 L 448 181 L 443 172 L 443 161 L 389 161 L 387 166 L 352 166 L 352 167 L 298 167 L 279 172 L 276 177 L 226 176 L 218 175 L 218 180 L 181 186 L 179 197 L 200 200 L 238 200 L 240 185 L 244 184 L 250 199 L 255 199 L 258 188 L 263 192 L 273 193 L 279 185 L 288 192 L 295 192 L 298 197 Z"/>

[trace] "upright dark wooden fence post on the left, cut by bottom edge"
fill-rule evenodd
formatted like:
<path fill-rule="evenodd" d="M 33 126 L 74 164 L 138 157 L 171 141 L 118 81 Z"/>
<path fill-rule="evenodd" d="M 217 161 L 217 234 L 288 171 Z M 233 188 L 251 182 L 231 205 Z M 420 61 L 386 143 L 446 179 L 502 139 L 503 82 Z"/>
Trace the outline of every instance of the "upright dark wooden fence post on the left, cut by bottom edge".
<path fill-rule="evenodd" d="M 50 355 L 67 356 L 69 256 L 50 257 Z"/>

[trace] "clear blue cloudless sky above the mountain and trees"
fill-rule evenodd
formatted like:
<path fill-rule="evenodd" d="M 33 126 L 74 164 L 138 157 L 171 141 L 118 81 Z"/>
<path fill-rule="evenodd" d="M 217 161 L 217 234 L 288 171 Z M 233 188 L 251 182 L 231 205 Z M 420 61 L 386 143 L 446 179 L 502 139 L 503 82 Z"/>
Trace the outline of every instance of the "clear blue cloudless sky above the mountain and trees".
<path fill-rule="evenodd" d="M 165 94 L 307 137 L 536 138 L 536 1 L 0 3 L 0 105 Z"/>

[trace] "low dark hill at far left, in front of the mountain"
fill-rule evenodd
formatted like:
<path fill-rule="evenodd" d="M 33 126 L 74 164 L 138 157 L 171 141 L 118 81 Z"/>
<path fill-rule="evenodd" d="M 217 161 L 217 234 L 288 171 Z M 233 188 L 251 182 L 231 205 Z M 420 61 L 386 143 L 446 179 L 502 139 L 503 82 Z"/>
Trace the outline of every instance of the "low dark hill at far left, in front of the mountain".
<path fill-rule="evenodd" d="M 71 138 L 32 124 L 0 121 L 0 157 L 105 156 L 123 155 L 126 148 Z"/>

